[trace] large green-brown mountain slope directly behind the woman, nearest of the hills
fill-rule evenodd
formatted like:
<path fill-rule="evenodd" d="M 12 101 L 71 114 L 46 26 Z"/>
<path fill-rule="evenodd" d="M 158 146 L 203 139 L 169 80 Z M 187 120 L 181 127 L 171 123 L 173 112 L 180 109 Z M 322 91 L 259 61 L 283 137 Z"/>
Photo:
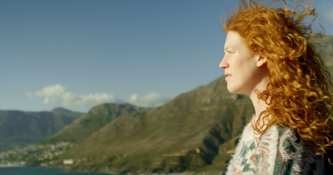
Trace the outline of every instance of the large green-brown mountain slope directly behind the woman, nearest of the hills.
<path fill-rule="evenodd" d="M 74 171 L 191 171 L 211 164 L 252 113 L 250 99 L 230 94 L 221 77 L 159 108 L 114 119 L 61 158 L 77 160 Z"/>

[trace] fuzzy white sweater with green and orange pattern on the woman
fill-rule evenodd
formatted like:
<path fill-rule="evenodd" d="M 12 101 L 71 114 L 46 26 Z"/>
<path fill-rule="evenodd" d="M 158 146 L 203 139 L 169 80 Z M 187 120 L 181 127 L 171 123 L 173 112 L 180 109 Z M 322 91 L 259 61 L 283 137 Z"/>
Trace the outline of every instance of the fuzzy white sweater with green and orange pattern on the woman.
<path fill-rule="evenodd" d="M 320 156 L 306 147 L 292 129 L 272 125 L 259 138 L 245 126 L 226 175 L 325 174 Z"/>

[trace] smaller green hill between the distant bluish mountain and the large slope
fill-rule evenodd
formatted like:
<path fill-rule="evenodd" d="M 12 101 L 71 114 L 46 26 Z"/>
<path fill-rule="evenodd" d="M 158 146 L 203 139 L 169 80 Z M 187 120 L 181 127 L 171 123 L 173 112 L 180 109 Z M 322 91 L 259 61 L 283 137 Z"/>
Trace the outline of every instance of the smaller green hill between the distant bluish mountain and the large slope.
<path fill-rule="evenodd" d="M 110 121 L 121 115 L 132 115 L 145 108 L 135 107 L 130 104 L 102 104 L 93 107 L 87 114 L 67 125 L 60 132 L 44 140 L 43 143 L 56 143 L 60 141 L 78 143 L 98 131 Z"/>

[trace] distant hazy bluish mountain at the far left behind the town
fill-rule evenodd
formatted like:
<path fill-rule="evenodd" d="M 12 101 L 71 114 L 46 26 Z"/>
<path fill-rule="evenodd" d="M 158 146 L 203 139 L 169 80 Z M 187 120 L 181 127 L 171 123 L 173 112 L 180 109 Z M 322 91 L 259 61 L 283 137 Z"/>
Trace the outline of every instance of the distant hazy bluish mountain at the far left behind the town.
<path fill-rule="evenodd" d="M 51 112 L 0 110 L 0 150 L 41 142 L 82 114 L 63 108 Z"/>

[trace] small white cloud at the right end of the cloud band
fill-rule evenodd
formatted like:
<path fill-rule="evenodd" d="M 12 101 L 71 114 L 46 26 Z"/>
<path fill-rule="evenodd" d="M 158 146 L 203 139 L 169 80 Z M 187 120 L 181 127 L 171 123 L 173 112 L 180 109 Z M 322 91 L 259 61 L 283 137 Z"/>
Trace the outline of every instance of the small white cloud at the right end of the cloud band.
<path fill-rule="evenodd" d="M 162 97 L 159 93 L 152 92 L 142 96 L 135 93 L 132 94 L 131 97 L 125 101 L 141 107 L 158 107 L 165 104 L 171 99 L 172 97 Z"/>

